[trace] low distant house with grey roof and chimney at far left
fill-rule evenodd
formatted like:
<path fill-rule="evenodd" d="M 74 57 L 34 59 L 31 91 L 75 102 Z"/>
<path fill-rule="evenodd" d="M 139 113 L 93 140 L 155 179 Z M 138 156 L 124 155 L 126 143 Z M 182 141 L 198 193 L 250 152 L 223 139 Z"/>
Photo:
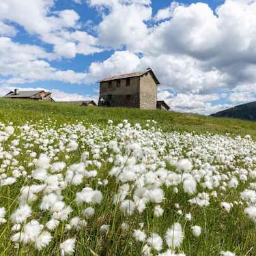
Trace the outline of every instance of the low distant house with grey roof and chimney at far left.
<path fill-rule="evenodd" d="M 4 98 L 14 98 L 14 99 L 31 99 L 31 100 L 45 100 L 54 101 L 51 98 L 51 92 L 47 91 L 20 91 L 19 89 L 14 89 L 8 94 L 3 96 Z"/>

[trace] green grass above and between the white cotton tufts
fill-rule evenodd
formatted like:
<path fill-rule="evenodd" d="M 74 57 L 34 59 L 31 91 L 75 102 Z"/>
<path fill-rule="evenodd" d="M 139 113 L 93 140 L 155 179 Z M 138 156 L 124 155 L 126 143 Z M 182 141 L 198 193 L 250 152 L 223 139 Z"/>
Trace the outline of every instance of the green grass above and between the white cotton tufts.
<path fill-rule="evenodd" d="M 244 136 L 250 134 L 253 139 L 256 139 L 256 123 L 246 122 L 238 119 L 214 118 L 202 115 L 186 115 L 182 113 L 174 113 L 167 111 L 146 111 L 139 109 L 118 109 L 118 108 L 100 108 L 100 107 L 85 107 L 76 104 L 65 104 L 57 102 L 38 102 L 33 100 L 8 100 L 0 99 L 0 122 L 8 124 L 13 122 L 14 126 L 25 124 L 31 121 L 37 124 L 42 120 L 45 125 L 50 118 L 53 122 L 56 121 L 57 126 L 61 124 L 76 124 L 77 122 L 89 121 L 92 124 L 99 124 L 102 127 L 106 125 L 109 119 L 112 119 L 114 124 L 128 119 L 132 124 L 145 124 L 148 119 L 154 119 L 157 126 L 165 132 L 193 132 L 198 134 L 210 132 L 212 134 L 229 133 L 235 137 L 237 135 Z M 4 147 L 7 145 L 3 145 Z M 35 145 L 31 150 L 40 152 L 38 146 Z M 27 160 L 28 155 L 20 156 L 20 162 Z M 65 160 L 64 155 L 59 155 L 59 160 L 64 160 L 67 165 L 74 162 L 79 162 L 81 151 L 72 152 L 70 159 Z M 107 159 L 108 156 L 105 156 Z M 105 159 L 105 160 L 106 160 Z M 1 159 L 0 159 L 1 164 Z M 112 165 L 105 162 L 101 168 L 102 173 L 99 177 L 104 179 L 108 175 Z M 93 168 L 91 168 L 93 169 Z M 167 169 L 173 171 L 171 167 Z M 33 167 L 27 167 L 26 171 L 30 172 Z M 97 180 L 86 181 L 92 188 L 97 188 Z M 249 182 L 249 181 L 248 181 Z M 173 188 L 165 188 L 166 200 L 162 203 L 165 209 L 163 216 L 160 218 L 154 217 L 152 214 L 153 205 L 148 205 L 147 210 L 143 214 L 138 212 L 132 218 L 124 218 L 116 206 L 110 203 L 113 199 L 117 186 L 117 182 L 113 178 L 109 178 L 109 186 L 104 191 L 102 203 L 96 207 L 95 216 L 88 221 L 86 229 L 79 232 L 64 231 L 64 226 L 68 221 L 63 222 L 55 232 L 51 232 L 54 237 L 52 242 L 38 252 L 33 248 L 33 245 L 23 245 L 17 251 L 14 244 L 10 242 L 10 237 L 13 232 L 10 231 L 12 223 L 9 218 L 6 225 L 0 225 L 0 255 L 59 255 L 59 244 L 67 238 L 76 237 L 76 252 L 74 255 L 140 255 L 141 244 L 134 242 L 131 233 L 132 229 L 138 229 L 139 223 L 143 222 L 145 230 L 159 233 L 162 237 L 165 231 L 171 227 L 175 221 L 179 221 L 185 231 L 185 239 L 180 248 L 187 256 L 215 256 L 219 255 L 221 250 L 236 251 L 236 255 L 256 255 L 255 251 L 255 225 L 244 214 L 244 208 L 236 205 L 231 213 L 224 212 L 220 208 L 221 201 L 239 201 L 239 193 L 246 188 L 248 182 L 240 186 L 238 190 L 231 189 L 228 193 L 223 193 L 216 201 L 211 203 L 209 208 L 199 208 L 187 203 L 188 197 L 182 191 L 182 184 L 178 186 L 180 193 L 173 193 Z M 13 210 L 18 206 L 18 196 L 20 188 L 27 186 L 29 181 L 18 180 L 14 186 L 0 187 L 0 207 L 5 206 L 7 216 L 10 216 Z M 81 214 L 85 208 L 79 207 L 74 203 L 76 192 L 81 191 L 85 184 L 81 186 L 68 186 L 64 190 L 65 203 L 71 205 L 74 212 L 72 216 Z M 201 192 L 199 189 L 198 192 Z M 40 195 L 42 196 L 42 195 Z M 39 197 L 40 197 L 39 196 Z M 180 203 L 181 210 L 185 213 L 190 212 L 193 215 L 191 223 L 181 218 L 176 214 L 174 203 Z M 40 223 L 46 223 L 51 217 L 51 214 L 40 214 L 38 210 L 38 202 L 31 203 L 33 209 L 33 218 L 38 219 Z M 123 221 L 127 221 L 130 225 L 128 231 L 122 231 L 120 225 Z M 106 236 L 99 236 L 99 227 L 103 224 L 110 224 L 111 231 Z M 202 235 L 200 238 L 195 238 L 190 230 L 192 225 L 202 227 Z M 91 253 L 91 250 L 96 254 Z"/>

